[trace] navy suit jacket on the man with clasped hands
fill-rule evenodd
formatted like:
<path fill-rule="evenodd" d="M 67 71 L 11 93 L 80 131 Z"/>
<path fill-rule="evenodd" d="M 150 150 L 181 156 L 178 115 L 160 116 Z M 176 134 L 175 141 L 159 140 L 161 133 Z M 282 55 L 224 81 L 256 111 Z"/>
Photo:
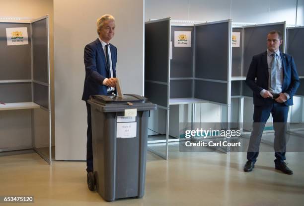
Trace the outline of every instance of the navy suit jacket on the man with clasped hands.
<path fill-rule="evenodd" d="M 287 93 L 290 96 L 285 104 L 293 105 L 293 96 L 300 86 L 299 75 L 293 57 L 281 52 L 280 56 L 283 63 L 282 93 Z M 263 89 L 268 90 L 268 75 L 267 52 L 253 56 L 247 73 L 246 84 L 253 91 L 254 105 L 262 106 L 273 102 L 271 98 L 264 99 L 260 95 Z"/>

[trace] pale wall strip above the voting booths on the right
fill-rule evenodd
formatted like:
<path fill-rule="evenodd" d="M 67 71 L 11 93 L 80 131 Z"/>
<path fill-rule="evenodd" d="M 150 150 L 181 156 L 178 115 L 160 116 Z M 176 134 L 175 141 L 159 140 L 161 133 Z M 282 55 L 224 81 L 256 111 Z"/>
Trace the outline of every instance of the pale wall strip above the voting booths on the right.
<path fill-rule="evenodd" d="M 297 0 L 145 0 L 145 19 L 296 23 Z M 304 0 L 298 0 L 298 24 L 304 23 Z"/>

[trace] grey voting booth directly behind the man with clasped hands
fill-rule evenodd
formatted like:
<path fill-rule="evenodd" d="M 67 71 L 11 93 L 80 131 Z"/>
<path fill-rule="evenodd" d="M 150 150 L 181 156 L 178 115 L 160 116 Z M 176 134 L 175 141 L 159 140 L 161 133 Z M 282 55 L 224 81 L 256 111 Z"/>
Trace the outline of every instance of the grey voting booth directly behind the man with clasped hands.
<path fill-rule="evenodd" d="M 240 122 L 240 130 L 243 134 L 251 133 L 253 122 L 253 92 L 245 83 L 246 75 L 252 57 L 267 50 L 267 34 L 272 30 L 278 30 L 283 34 L 280 51 L 285 52 L 285 21 L 232 28 L 232 31 L 240 36 L 240 46 L 232 47 L 231 101 L 237 104 L 235 108 L 238 110 L 232 115 L 234 115 L 234 122 Z M 273 128 L 266 127 L 265 129 L 272 130 Z"/>

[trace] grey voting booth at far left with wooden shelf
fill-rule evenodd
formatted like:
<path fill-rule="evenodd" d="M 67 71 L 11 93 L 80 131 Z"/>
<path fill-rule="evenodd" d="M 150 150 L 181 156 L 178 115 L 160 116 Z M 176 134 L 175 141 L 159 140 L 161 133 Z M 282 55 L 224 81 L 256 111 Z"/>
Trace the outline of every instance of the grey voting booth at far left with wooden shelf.
<path fill-rule="evenodd" d="M 0 152 L 34 149 L 49 164 L 49 16 L 0 22 Z"/>

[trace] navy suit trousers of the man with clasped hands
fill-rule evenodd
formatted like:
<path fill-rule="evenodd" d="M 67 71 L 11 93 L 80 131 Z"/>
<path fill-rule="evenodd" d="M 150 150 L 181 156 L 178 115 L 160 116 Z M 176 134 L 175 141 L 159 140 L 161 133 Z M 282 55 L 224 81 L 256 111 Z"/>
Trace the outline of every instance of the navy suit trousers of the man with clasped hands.
<path fill-rule="evenodd" d="M 270 113 L 273 117 L 273 127 L 275 130 L 274 149 L 275 149 L 275 164 L 286 160 L 286 130 L 288 106 L 284 103 L 278 103 L 273 100 L 272 104 L 263 106 L 254 106 L 253 112 L 253 130 L 251 132 L 247 160 L 256 162 L 259 155 L 259 146 L 263 130 Z"/>

